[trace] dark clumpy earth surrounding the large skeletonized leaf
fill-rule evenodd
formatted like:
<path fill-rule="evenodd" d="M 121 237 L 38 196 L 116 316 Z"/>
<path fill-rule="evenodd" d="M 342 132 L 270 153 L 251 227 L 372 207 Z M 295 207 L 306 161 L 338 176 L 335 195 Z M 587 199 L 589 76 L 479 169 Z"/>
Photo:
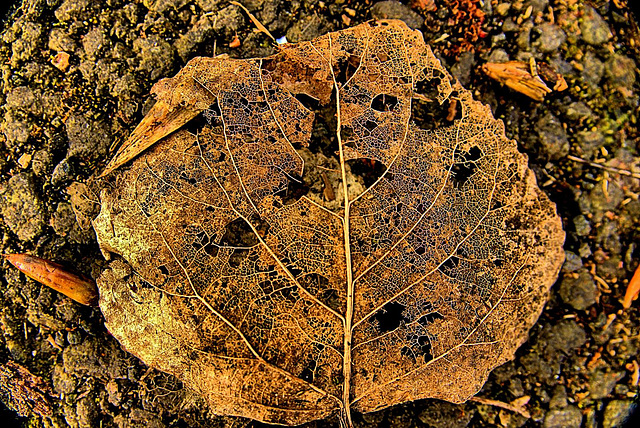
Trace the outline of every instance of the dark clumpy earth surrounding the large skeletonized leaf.
<path fill-rule="evenodd" d="M 371 18 L 420 29 L 488 103 L 558 204 L 566 262 L 516 359 L 479 397 L 356 415 L 361 427 L 623 426 L 638 403 L 640 303 L 621 300 L 640 261 L 640 38 L 625 0 L 247 0 L 276 38 L 309 40 Z M 271 40 L 218 0 L 29 0 L 0 36 L 0 251 L 87 275 L 104 266 L 76 220 L 77 181 L 142 118 L 151 85 L 198 55 L 258 57 Z M 486 62 L 530 58 L 568 83 L 536 102 L 491 81 Z M 0 399 L 18 426 L 231 427 L 175 378 L 144 366 L 80 306 L 3 264 Z M 511 403 L 513 412 L 486 400 Z M 4 415 L 3 415 L 4 416 Z M 529 417 L 526 417 L 529 416 Z M 319 427 L 335 421 L 317 422 Z"/>

